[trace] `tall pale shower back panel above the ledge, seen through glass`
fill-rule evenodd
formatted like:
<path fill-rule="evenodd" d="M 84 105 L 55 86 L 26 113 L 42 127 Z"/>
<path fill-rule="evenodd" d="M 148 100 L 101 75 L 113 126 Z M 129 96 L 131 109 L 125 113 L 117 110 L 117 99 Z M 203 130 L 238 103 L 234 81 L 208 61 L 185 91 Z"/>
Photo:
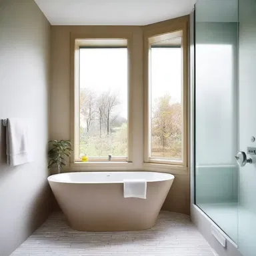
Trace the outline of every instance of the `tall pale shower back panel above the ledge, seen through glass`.
<path fill-rule="evenodd" d="M 196 26 L 197 163 L 235 164 L 237 24 Z"/>

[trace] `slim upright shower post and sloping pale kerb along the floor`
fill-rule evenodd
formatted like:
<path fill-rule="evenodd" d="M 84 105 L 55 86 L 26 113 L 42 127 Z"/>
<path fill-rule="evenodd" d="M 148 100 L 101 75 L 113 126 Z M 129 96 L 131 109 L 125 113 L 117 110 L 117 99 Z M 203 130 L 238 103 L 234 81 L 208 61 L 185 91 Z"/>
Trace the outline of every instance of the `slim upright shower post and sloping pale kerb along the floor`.
<path fill-rule="evenodd" d="M 219 256 L 242 256 L 237 249 L 237 244 L 225 234 L 225 232 L 206 215 L 195 204 L 195 7 L 190 14 L 190 51 L 189 51 L 189 123 L 190 123 L 190 201 L 191 201 L 191 221 L 196 225 L 209 245 L 219 254 Z M 217 229 L 219 235 L 226 241 L 223 247 L 213 236 L 212 228 Z"/>

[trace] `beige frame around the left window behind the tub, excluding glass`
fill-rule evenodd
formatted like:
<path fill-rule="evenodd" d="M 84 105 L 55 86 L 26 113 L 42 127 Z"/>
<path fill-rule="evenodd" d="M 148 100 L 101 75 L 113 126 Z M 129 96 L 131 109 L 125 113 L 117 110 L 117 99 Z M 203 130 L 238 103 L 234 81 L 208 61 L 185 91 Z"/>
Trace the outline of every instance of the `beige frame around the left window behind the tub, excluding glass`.
<path fill-rule="evenodd" d="M 124 41 L 126 44 L 124 45 Z M 112 157 L 108 161 L 106 157 L 89 157 L 88 162 L 79 159 L 79 51 L 82 47 L 123 47 L 127 48 L 127 157 Z M 132 138 L 132 111 L 131 111 L 131 33 L 103 33 L 99 37 L 95 33 L 71 34 L 71 166 L 73 167 L 103 167 L 103 165 L 116 166 L 117 163 L 127 166 L 132 163 L 133 138 Z M 112 164 L 111 164 L 112 163 Z M 115 164 L 113 164 L 115 163 Z"/>

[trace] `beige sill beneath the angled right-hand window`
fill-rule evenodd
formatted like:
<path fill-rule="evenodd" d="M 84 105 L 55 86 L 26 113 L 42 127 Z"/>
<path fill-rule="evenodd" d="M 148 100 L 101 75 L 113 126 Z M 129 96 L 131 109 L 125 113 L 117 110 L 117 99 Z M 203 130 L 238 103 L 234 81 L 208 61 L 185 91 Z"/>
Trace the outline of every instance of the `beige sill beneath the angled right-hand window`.
<path fill-rule="evenodd" d="M 164 163 L 143 163 L 144 171 L 157 171 L 159 173 L 171 173 L 177 175 L 187 175 L 189 168 L 181 165 L 169 165 Z"/>

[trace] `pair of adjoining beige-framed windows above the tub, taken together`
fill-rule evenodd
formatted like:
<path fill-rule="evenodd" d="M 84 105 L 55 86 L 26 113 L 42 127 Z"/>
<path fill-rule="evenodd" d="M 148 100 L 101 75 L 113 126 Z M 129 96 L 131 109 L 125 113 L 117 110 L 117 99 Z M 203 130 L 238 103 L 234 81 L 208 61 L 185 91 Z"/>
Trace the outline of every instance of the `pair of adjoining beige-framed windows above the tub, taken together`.
<path fill-rule="evenodd" d="M 187 173 L 188 23 L 71 33 L 72 171 Z"/>

